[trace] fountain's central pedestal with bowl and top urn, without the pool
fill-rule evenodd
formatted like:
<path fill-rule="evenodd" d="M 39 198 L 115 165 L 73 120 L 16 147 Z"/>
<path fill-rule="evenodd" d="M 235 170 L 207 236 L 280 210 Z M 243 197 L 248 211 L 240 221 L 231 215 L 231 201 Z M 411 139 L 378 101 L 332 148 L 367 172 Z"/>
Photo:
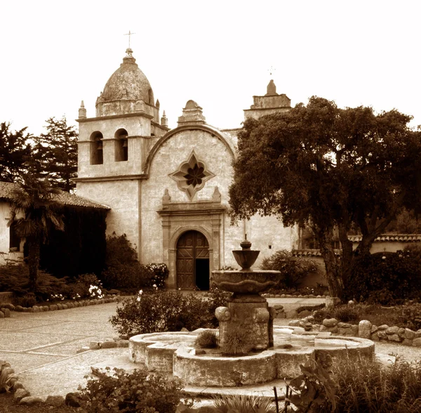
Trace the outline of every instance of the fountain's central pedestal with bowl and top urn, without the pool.
<path fill-rule="evenodd" d="M 240 245 L 242 249 L 232 253 L 241 270 L 212 272 L 216 287 L 234 293 L 227 307 L 215 311 L 220 326 L 220 347 L 229 348 L 229 342 L 236 336 L 241 337 L 245 352 L 266 350 L 273 346 L 273 317 L 266 299 L 259 293 L 274 287 L 281 273 L 250 270 L 260 251 L 251 250 L 247 240 Z"/>

